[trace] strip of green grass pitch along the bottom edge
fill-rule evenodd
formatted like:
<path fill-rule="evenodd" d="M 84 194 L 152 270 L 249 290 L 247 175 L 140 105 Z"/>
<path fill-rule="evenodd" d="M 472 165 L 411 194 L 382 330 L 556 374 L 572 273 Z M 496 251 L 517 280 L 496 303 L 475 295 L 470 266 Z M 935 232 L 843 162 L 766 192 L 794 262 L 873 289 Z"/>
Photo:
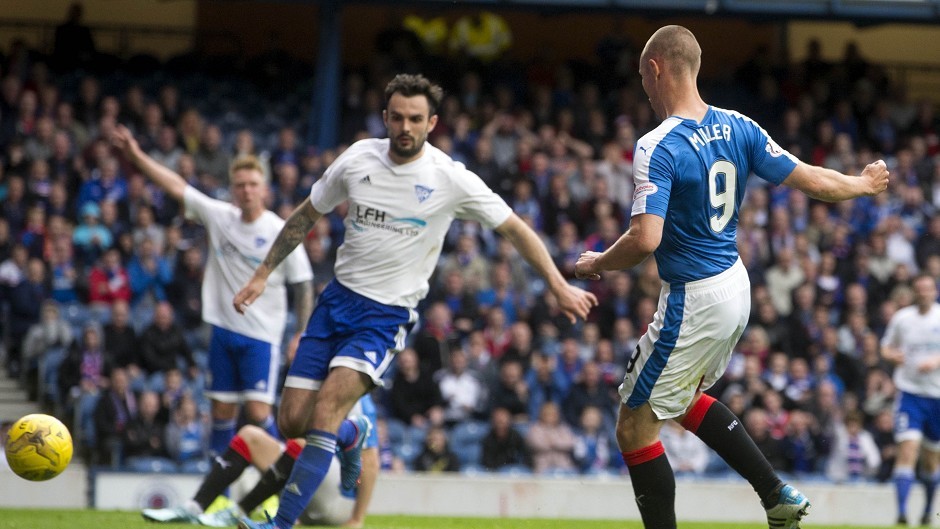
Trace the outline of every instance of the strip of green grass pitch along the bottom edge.
<path fill-rule="evenodd" d="M 815 525 L 806 529 L 872 529 L 872 526 Z M 94 510 L 0 509 L 0 529 L 155 529 L 137 512 Z M 192 527 L 166 524 L 164 527 Z M 682 529 L 757 529 L 755 524 L 691 523 L 679 521 Z M 443 518 L 424 516 L 370 516 L 365 529 L 643 529 L 637 521 L 549 520 L 518 518 Z"/>

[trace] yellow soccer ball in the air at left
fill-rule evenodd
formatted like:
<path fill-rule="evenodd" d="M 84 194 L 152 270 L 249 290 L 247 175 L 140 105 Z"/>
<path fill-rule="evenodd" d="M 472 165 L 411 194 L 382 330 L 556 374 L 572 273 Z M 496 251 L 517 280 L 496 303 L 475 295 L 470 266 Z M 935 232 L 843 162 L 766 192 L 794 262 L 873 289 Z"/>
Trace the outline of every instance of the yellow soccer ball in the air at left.
<path fill-rule="evenodd" d="M 52 479 L 72 460 L 72 436 L 68 428 L 51 415 L 27 415 L 13 423 L 7 435 L 7 462 L 23 479 Z"/>

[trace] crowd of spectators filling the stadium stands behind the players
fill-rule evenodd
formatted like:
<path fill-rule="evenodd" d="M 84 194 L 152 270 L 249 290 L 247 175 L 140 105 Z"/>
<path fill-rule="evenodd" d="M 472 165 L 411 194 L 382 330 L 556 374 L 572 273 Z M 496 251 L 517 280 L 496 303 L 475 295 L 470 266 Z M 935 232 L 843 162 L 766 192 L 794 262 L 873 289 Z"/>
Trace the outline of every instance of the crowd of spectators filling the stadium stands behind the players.
<path fill-rule="evenodd" d="M 629 41 L 605 37 L 592 62 L 549 64 L 445 60 L 408 32 L 383 38 L 404 45 L 380 46 L 347 72 L 341 144 L 325 150 L 303 141 L 309 76 L 292 77 L 302 69 L 283 54 L 220 71 L 182 60 L 141 68 L 151 63 L 140 58 L 63 64 L 22 43 L 5 50 L 5 366 L 31 398 L 69 418 L 88 461 L 200 470 L 208 451 L 205 234 L 111 145 L 119 123 L 216 198 L 227 197 L 233 160 L 260 157 L 269 207 L 286 216 L 346 145 L 384 136 L 384 102 L 371 87 L 420 71 L 447 89 L 430 142 L 504 196 L 572 282 L 582 251 L 601 251 L 626 229 L 634 142 L 656 125 Z M 940 279 L 935 106 L 909 101 L 852 45 L 836 62 L 811 45 L 795 64 L 760 49 L 702 91 L 806 161 L 849 174 L 888 161 L 889 192 L 872 199 L 827 205 L 785 187 L 748 189 L 738 237 L 753 311 L 727 375 L 709 390 L 780 471 L 887 480 L 895 388 L 879 340 L 912 302 L 914 275 Z M 344 213 L 322 219 L 305 242 L 317 291 L 331 279 Z M 616 388 L 660 280 L 650 260 L 580 286 L 601 302 L 572 325 L 510 244 L 455 222 L 420 327 L 375 392 L 383 467 L 623 472 Z M 681 427 L 662 438 L 678 475 L 727 473 Z"/>

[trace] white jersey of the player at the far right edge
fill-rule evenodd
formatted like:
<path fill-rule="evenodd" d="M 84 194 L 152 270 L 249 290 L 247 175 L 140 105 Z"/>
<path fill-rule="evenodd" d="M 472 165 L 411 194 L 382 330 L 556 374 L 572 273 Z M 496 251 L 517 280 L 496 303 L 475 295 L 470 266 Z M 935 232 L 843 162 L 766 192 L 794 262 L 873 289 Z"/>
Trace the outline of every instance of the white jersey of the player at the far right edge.
<path fill-rule="evenodd" d="M 904 354 L 904 363 L 894 368 L 894 384 L 906 393 L 940 398 L 940 369 L 927 373 L 917 370 L 922 361 L 940 355 L 940 304 L 934 303 L 927 314 L 916 305 L 898 310 L 881 345 L 897 347 Z"/>

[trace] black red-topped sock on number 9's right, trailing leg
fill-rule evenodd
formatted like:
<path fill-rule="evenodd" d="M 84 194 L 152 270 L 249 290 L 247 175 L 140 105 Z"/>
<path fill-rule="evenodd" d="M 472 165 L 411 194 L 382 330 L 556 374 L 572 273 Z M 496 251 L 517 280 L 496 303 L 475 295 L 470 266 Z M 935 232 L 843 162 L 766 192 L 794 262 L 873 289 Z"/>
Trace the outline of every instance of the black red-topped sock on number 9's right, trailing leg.
<path fill-rule="evenodd" d="M 783 482 L 727 406 L 703 394 L 689 409 L 682 426 L 746 479 L 766 508 L 777 504 Z"/>

